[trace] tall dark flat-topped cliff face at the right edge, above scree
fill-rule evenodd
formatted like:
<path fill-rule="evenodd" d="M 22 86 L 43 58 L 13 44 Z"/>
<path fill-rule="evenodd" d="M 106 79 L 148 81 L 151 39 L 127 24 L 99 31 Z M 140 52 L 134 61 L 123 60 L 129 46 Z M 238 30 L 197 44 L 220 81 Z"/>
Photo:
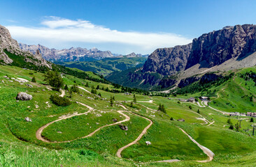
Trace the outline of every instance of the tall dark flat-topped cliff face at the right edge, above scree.
<path fill-rule="evenodd" d="M 256 51 L 256 26 L 227 26 L 203 34 L 192 42 L 192 51 L 185 69 L 201 63 L 201 67 L 220 65 L 230 58 L 243 57 Z"/>

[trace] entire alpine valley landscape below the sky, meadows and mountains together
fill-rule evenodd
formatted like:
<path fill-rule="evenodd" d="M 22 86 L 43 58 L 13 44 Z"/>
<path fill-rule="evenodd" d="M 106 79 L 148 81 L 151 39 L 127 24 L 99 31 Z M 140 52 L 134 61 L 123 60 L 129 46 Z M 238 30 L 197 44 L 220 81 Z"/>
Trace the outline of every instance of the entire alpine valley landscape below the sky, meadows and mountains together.
<path fill-rule="evenodd" d="M 255 166 L 255 51 L 254 24 L 149 56 L 18 44 L 0 26 L 0 165 Z"/>

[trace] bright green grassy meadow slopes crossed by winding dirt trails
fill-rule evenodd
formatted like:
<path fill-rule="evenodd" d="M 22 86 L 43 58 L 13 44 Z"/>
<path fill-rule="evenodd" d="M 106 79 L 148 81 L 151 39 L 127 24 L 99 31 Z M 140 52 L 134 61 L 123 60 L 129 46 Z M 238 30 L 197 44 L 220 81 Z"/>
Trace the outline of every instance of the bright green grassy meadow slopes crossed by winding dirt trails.
<path fill-rule="evenodd" d="M 216 95 L 214 97 L 213 93 L 211 97 L 213 100 L 210 102 L 211 106 L 225 111 L 231 109 L 241 111 L 239 105 L 243 105 L 243 108 L 249 107 L 253 110 L 254 102 L 246 106 L 250 97 L 248 101 L 247 98 L 239 99 L 241 93 L 248 96 L 250 93 L 255 93 L 253 80 L 248 82 L 240 77 L 243 72 L 246 71 L 241 70 L 234 75 L 234 79 L 209 89 L 211 91 L 215 89 Z M 10 79 L 7 79 L 6 75 Z M 64 74 L 64 84 L 69 88 L 73 84 L 78 84 L 90 92 L 92 87 L 96 88 L 99 85 L 100 89 L 97 93 L 101 93 L 102 98 L 82 89 L 79 89 L 79 93 L 73 93 L 72 97 L 68 91 L 65 91 L 65 97 L 71 100 L 71 105 L 57 106 L 50 101 L 50 95 L 61 95 L 61 93 L 49 90 L 50 86 L 43 81 L 43 75 L 41 72 L 24 70 L 20 67 L 0 66 L 1 166 L 253 166 L 255 164 L 256 138 L 251 136 L 253 130 L 251 125 L 254 122 L 249 121 L 250 117 L 240 116 L 239 119 L 243 121 L 239 132 L 236 132 L 235 129 L 229 129 L 227 123 L 230 118 L 233 124 L 236 124 L 239 120 L 235 116 L 223 115 L 208 106 L 200 107 L 196 103 L 178 101 L 179 98 L 199 96 L 201 93 L 193 95 L 187 93 L 171 99 L 136 94 L 136 103 L 131 106 L 131 101 L 134 100 L 133 94 L 107 92 L 101 88 L 108 87 L 112 90 L 115 89 L 114 86 Z M 36 78 L 36 83 L 31 82 L 32 77 Z M 27 84 L 33 87 L 20 84 L 11 78 L 27 79 L 29 80 Z M 88 87 L 85 83 L 89 84 Z M 225 86 L 229 96 L 221 94 Z M 242 88 L 239 89 L 240 87 L 237 86 Z M 17 93 L 21 91 L 33 95 L 33 99 L 15 100 Z M 208 90 L 204 90 L 203 94 L 207 92 Z M 111 96 L 115 96 L 113 106 L 109 102 Z M 218 101 L 219 99 L 221 100 Z M 233 100 L 234 108 L 226 104 L 225 100 L 227 102 Z M 90 111 L 77 102 L 86 104 L 93 110 Z M 164 104 L 166 113 L 157 111 L 160 103 Z M 127 110 L 119 104 L 124 105 Z M 75 116 L 88 111 L 90 113 Z M 118 111 L 129 116 L 129 120 L 122 122 L 122 125 L 128 127 L 127 131 L 120 129 L 121 123 L 112 125 L 113 118 L 117 121 L 125 120 L 125 116 Z M 72 117 L 59 120 L 63 116 Z M 32 121 L 25 121 L 26 117 L 31 118 Z M 171 117 L 174 120 L 170 120 Z M 122 151 L 122 158 L 116 157 L 120 148 L 136 140 L 143 129 L 150 125 L 150 121 L 145 118 L 152 121 L 148 131 L 134 145 Z M 178 122 L 180 118 L 185 122 Z M 47 143 L 36 138 L 37 130 L 54 120 L 59 121 L 43 129 L 42 136 L 50 141 L 72 140 L 71 142 Z M 104 125 L 110 126 L 83 138 Z M 213 161 L 197 162 L 206 159 L 206 154 L 178 127 L 210 149 L 215 154 Z M 146 141 L 152 144 L 146 145 Z M 180 161 L 153 162 L 168 159 Z M 148 164 L 140 164 L 141 162 Z"/>

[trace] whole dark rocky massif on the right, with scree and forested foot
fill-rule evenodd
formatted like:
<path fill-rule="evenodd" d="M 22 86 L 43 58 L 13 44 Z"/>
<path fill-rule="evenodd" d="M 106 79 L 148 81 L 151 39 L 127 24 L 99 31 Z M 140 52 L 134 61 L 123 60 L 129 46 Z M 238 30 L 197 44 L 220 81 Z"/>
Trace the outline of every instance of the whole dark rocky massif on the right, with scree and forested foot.
<path fill-rule="evenodd" d="M 207 72 L 252 67 L 256 65 L 255 51 L 255 25 L 226 26 L 205 33 L 188 45 L 156 49 L 143 67 L 113 72 L 106 78 L 135 88 L 183 87 Z"/>

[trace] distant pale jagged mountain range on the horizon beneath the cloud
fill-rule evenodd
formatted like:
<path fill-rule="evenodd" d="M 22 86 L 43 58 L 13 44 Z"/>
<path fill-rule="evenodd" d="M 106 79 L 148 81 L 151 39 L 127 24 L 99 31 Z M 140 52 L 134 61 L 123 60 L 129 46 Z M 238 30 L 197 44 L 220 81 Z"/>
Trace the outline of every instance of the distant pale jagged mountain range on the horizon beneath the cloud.
<path fill-rule="evenodd" d="M 47 61 L 92 61 L 100 60 L 102 58 L 112 57 L 111 51 L 100 51 L 96 48 L 85 49 L 81 47 L 71 47 L 70 49 L 49 49 L 43 45 L 26 45 L 20 43 L 20 48 L 24 51 L 30 51 L 31 53 L 36 53 L 38 49 L 43 58 Z"/>

